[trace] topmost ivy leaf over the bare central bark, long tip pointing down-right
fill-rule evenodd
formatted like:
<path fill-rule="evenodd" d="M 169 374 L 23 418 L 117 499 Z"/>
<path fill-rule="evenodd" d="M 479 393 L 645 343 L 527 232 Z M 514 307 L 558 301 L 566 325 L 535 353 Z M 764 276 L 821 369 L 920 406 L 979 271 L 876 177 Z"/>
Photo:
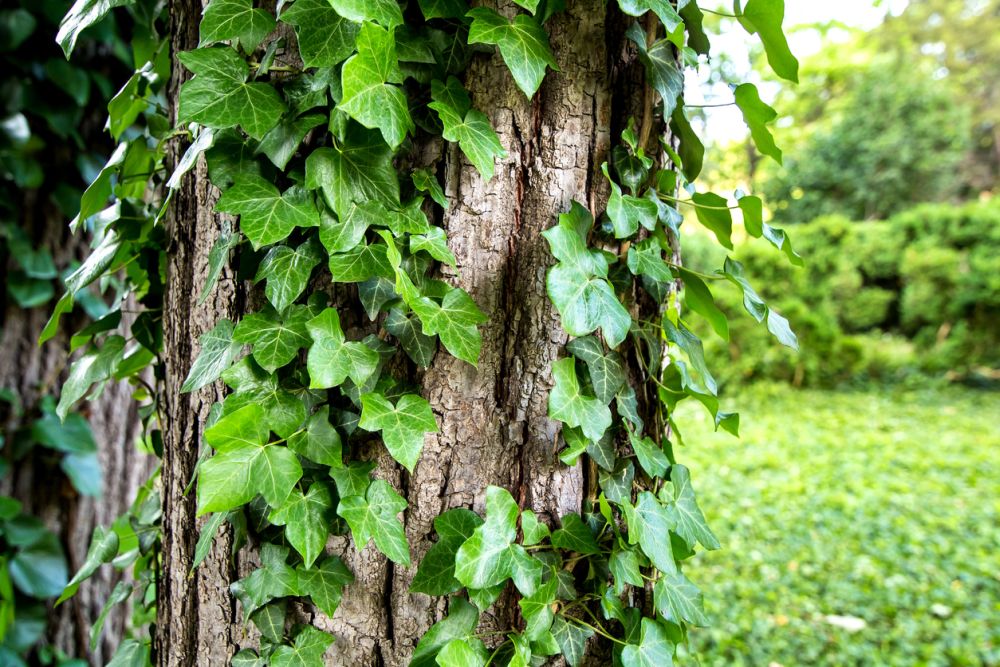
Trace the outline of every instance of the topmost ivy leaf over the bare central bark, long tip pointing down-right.
<path fill-rule="evenodd" d="M 508 21 L 487 7 L 477 7 L 466 16 L 472 19 L 469 44 L 495 44 L 517 87 L 528 97 L 542 85 L 546 66 L 559 70 L 549 35 L 538 19 L 518 14 Z"/>

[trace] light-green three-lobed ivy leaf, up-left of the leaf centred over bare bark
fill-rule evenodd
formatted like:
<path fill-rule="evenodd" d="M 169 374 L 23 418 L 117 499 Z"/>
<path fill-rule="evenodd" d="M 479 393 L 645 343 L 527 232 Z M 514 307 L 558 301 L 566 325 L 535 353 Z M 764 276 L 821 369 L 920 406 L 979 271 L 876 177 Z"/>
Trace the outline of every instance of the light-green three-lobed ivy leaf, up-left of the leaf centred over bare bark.
<path fill-rule="evenodd" d="M 348 377 L 359 387 L 378 366 L 378 354 L 364 343 L 348 343 L 335 308 L 327 308 L 306 323 L 313 345 L 306 361 L 309 386 L 326 389 Z"/>

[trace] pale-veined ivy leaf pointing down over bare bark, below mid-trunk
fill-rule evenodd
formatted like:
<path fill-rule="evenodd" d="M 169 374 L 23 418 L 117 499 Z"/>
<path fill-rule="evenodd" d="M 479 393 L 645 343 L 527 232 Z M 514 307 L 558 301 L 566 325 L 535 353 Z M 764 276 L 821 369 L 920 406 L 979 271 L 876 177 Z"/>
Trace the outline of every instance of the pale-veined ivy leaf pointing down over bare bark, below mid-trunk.
<path fill-rule="evenodd" d="M 358 426 L 381 431 L 392 458 L 411 473 L 424 447 L 424 434 L 438 431 L 430 403 L 417 394 L 404 394 L 395 406 L 382 394 L 362 395 Z"/>

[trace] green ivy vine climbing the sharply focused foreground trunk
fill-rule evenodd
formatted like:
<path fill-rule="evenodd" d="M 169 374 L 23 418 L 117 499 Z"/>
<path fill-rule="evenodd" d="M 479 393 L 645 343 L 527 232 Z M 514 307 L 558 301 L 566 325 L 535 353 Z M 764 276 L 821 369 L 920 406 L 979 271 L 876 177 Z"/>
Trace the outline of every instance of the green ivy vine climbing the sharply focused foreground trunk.
<path fill-rule="evenodd" d="M 74 6 L 60 32 L 67 53 L 110 4 L 128 3 Z M 224 523 L 238 548 L 251 533 L 260 543 L 260 567 L 232 592 L 261 639 L 233 664 L 322 664 L 333 638 L 311 625 L 289 628 L 288 600 L 308 599 L 322 613 L 336 613 L 352 574 L 326 553 L 330 534 L 349 533 L 356 549 L 374 542 L 397 565 L 415 565 L 398 518 L 406 501 L 373 477 L 366 447 L 378 443 L 412 472 L 425 435 L 438 424 L 407 369 L 427 367 L 439 343 L 476 364 L 477 326 L 485 317 L 465 291 L 436 277 L 439 263 L 456 264 L 445 231 L 433 222 L 449 201 L 437 175 L 412 166 L 408 151 L 414 137 L 440 135 L 482 178 L 492 177 L 504 148 L 461 82 L 474 52 L 496 47 L 529 98 L 546 72 L 558 69 L 545 25 L 562 3 L 517 5 L 502 15 L 463 0 L 406 7 L 395 0 L 295 0 L 279 3 L 275 15 L 252 0 L 211 0 L 199 47 L 175 54 L 189 73 L 176 126 L 163 115 L 160 8 L 130 5 L 147 19 L 148 63 L 109 105 L 109 128 L 121 143 L 74 221 L 94 233 L 95 250 L 67 280 L 53 321 L 110 275 L 125 277 L 122 299 L 143 309 L 127 338 L 110 333 L 117 323 L 94 331 L 63 395 L 68 406 L 94 383 L 132 378 L 147 402 L 149 437 L 159 442 L 167 242 L 160 219 L 171 192 L 204 158 L 221 192 L 215 210 L 224 215 L 202 299 L 232 258 L 240 276 L 260 287 L 252 312 L 238 322 L 222 319 L 201 337 L 182 387 L 196 391 L 221 380 L 229 389 L 204 431 L 196 493 L 198 514 L 208 519 L 195 567 Z M 544 233 L 555 260 L 548 295 L 573 337 L 551 369 L 549 415 L 563 424 L 562 461 L 593 462 L 594 495 L 558 527 L 498 487 L 486 489 L 484 517 L 463 508 L 440 515 L 438 540 L 416 566 L 412 590 L 451 596 L 449 614 L 420 640 L 413 664 L 529 665 L 561 654 L 577 665 L 595 636 L 627 667 L 671 664 L 688 628 L 708 622 L 683 563 L 699 545 L 719 547 L 690 473 L 675 457 L 681 431 L 674 407 L 693 398 L 719 427 L 738 430 L 738 416 L 719 408 L 701 341 L 677 307 L 680 286 L 689 311 L 717 335 L 727 337 L 728 325 L 710 285 L 728 282 L 742 291 L 753 318 L 779 342 L 796 345 L 788 322 L 758 296 L 738 262 L 727 259 L 705 275 L 678 257 L 682 210 L 689 207 L 728 249 L 738 209 L 748 234 L 799 261 L 784 233 L 764 222 L 760 199 L 742 196 L 732 206 L 695 186 L 704 148 L 682 91 L 686 66 L 708 53 L 701 10 L 684 0 L 618 6 L 642 21 L 627 36 L 659 104 L 637 119 L 638 129 L 630 125 L 603 165 L 611 194 L 598 221 L 598 212 L 574 203 Z M 794 79 L 782 0 L 737 2 L 733 15 L 760 37 L 774 71 Z M 733 94 L 761 152 L 780 160 L 767 129 L 775 112 L 752 84 Z M 658 126 L 670 132 L 657 137 Z M 177 141 L 188 147 L 169 165 L 165 156 Z M 369 322 L 355 318 L 358 312 Z M 638 379 L 626 374 L 626 356 L 639 363 Z M 637 395 L 647 392 L 659 400 L 644 419 Z M 150 526 L 149 539 L 140 541 L 140 572 L 155 571 L 155 519 L 139 525 Z M 114 531 L 99 531 L 93 558 L 74 582 L 120 559 L 122 549 Z M 508 580 L 519 595 L 522 627 L 480 633 L 480 613 Z M 149 595 L 142 600 L 148 610 Z M 129 664 L 141 664 L 150 639 L 130 641 L 123 647 L 135 661 Z"/>

